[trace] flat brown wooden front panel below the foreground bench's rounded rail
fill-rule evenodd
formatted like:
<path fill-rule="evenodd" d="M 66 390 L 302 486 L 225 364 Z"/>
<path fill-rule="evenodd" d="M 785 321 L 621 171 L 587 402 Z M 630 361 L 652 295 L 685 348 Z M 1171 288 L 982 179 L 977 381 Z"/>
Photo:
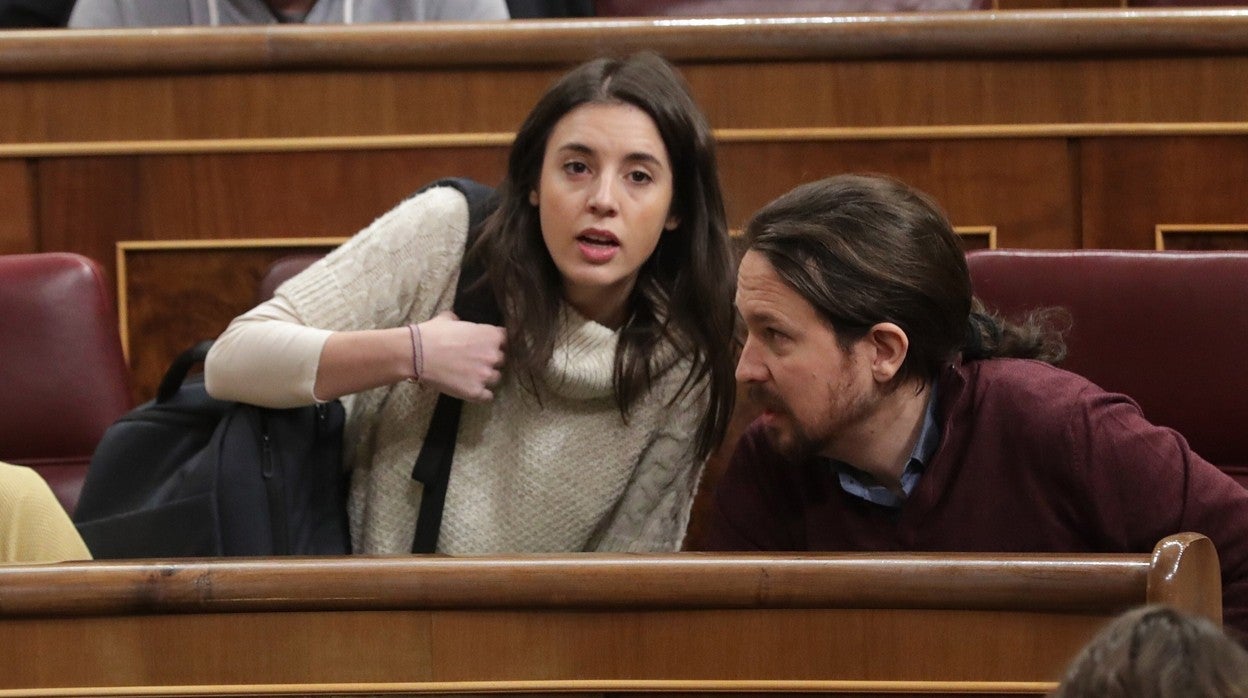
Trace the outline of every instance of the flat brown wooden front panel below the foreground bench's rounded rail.
<path fill-rule="evenodd" d="M 306 696 L 316 684 L 371 683 L 368 694 L 377 694 L 386 683 L 417 689 L 433 683 L 475 694 L 525 682 L 552 688 L 741 682 L 771 684 L 764 692 L 773 693 L 786 682 L 809 682 L 825 691 L 857 684 L 874 694 L 915 682 L 899 693 L 927 694 L 927 687 L 945 694 L 981 684 L 975 693 L 1041 694 L 1111 617 L 1108 611 L 469 608 L 0 619 L 0 637 L 14 641 L 0 691 L 141 694 L 124 687 L 172 693 L 232 686 L 235 694 L 245 687 L 258 689 L 247 694 L 265 694 L 286 684 L 287 694 Z M 953 636 L 957 642 L 950 642 Z M 75 651 L 56 651 L 64 647 Z"/>

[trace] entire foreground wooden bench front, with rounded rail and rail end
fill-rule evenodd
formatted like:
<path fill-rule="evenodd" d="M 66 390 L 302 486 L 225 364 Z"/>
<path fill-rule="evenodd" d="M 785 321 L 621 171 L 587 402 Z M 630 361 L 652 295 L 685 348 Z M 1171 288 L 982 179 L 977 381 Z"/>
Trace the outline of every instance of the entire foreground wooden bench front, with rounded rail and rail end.
<path fill-rule="evenodd" d="M 0 697 L 1040 694 L 1217 553 L 349 557 L 0 568 Z"/>

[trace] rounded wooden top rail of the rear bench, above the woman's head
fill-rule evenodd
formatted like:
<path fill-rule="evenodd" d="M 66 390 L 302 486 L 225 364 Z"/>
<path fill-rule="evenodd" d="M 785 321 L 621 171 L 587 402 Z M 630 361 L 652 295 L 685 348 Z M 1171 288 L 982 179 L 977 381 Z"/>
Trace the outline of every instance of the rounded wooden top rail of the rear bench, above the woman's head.
<path fill-rule="evenodd" d="M 0 74 L 1248 52 L 1248 10 L 1015 10 L 0 32 Z"/>

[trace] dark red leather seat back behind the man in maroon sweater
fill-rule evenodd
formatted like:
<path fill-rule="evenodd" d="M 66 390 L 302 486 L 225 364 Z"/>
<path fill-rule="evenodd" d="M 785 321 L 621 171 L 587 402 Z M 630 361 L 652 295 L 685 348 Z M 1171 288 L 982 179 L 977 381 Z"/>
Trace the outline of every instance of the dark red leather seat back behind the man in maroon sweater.
<path fill-rule="evenodd" d="M 1131 396 L 1248 484 L 1248 252 L 985 250 L 967 265 L 1006 317 L 1066 307 L 1065 368 Z"/>

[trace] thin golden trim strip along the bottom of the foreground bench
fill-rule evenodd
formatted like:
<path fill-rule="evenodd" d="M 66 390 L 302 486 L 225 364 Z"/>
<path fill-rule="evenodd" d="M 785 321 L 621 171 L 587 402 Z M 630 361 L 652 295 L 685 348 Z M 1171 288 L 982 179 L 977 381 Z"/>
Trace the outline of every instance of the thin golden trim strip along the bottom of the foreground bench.
<path fill-rule="evenodd" d="M 308 696 L 384 693 L 573 693 L 573 692 L 753 692 L 753 693 L 1018 693 L 1046 694 L 1053 682 L 1021 681 L 685 681 L 564 679 L 423 683 L 298 683 L 222 686 L 135 686 L 0 689 L 0 698 L 65 696 Z"/>

